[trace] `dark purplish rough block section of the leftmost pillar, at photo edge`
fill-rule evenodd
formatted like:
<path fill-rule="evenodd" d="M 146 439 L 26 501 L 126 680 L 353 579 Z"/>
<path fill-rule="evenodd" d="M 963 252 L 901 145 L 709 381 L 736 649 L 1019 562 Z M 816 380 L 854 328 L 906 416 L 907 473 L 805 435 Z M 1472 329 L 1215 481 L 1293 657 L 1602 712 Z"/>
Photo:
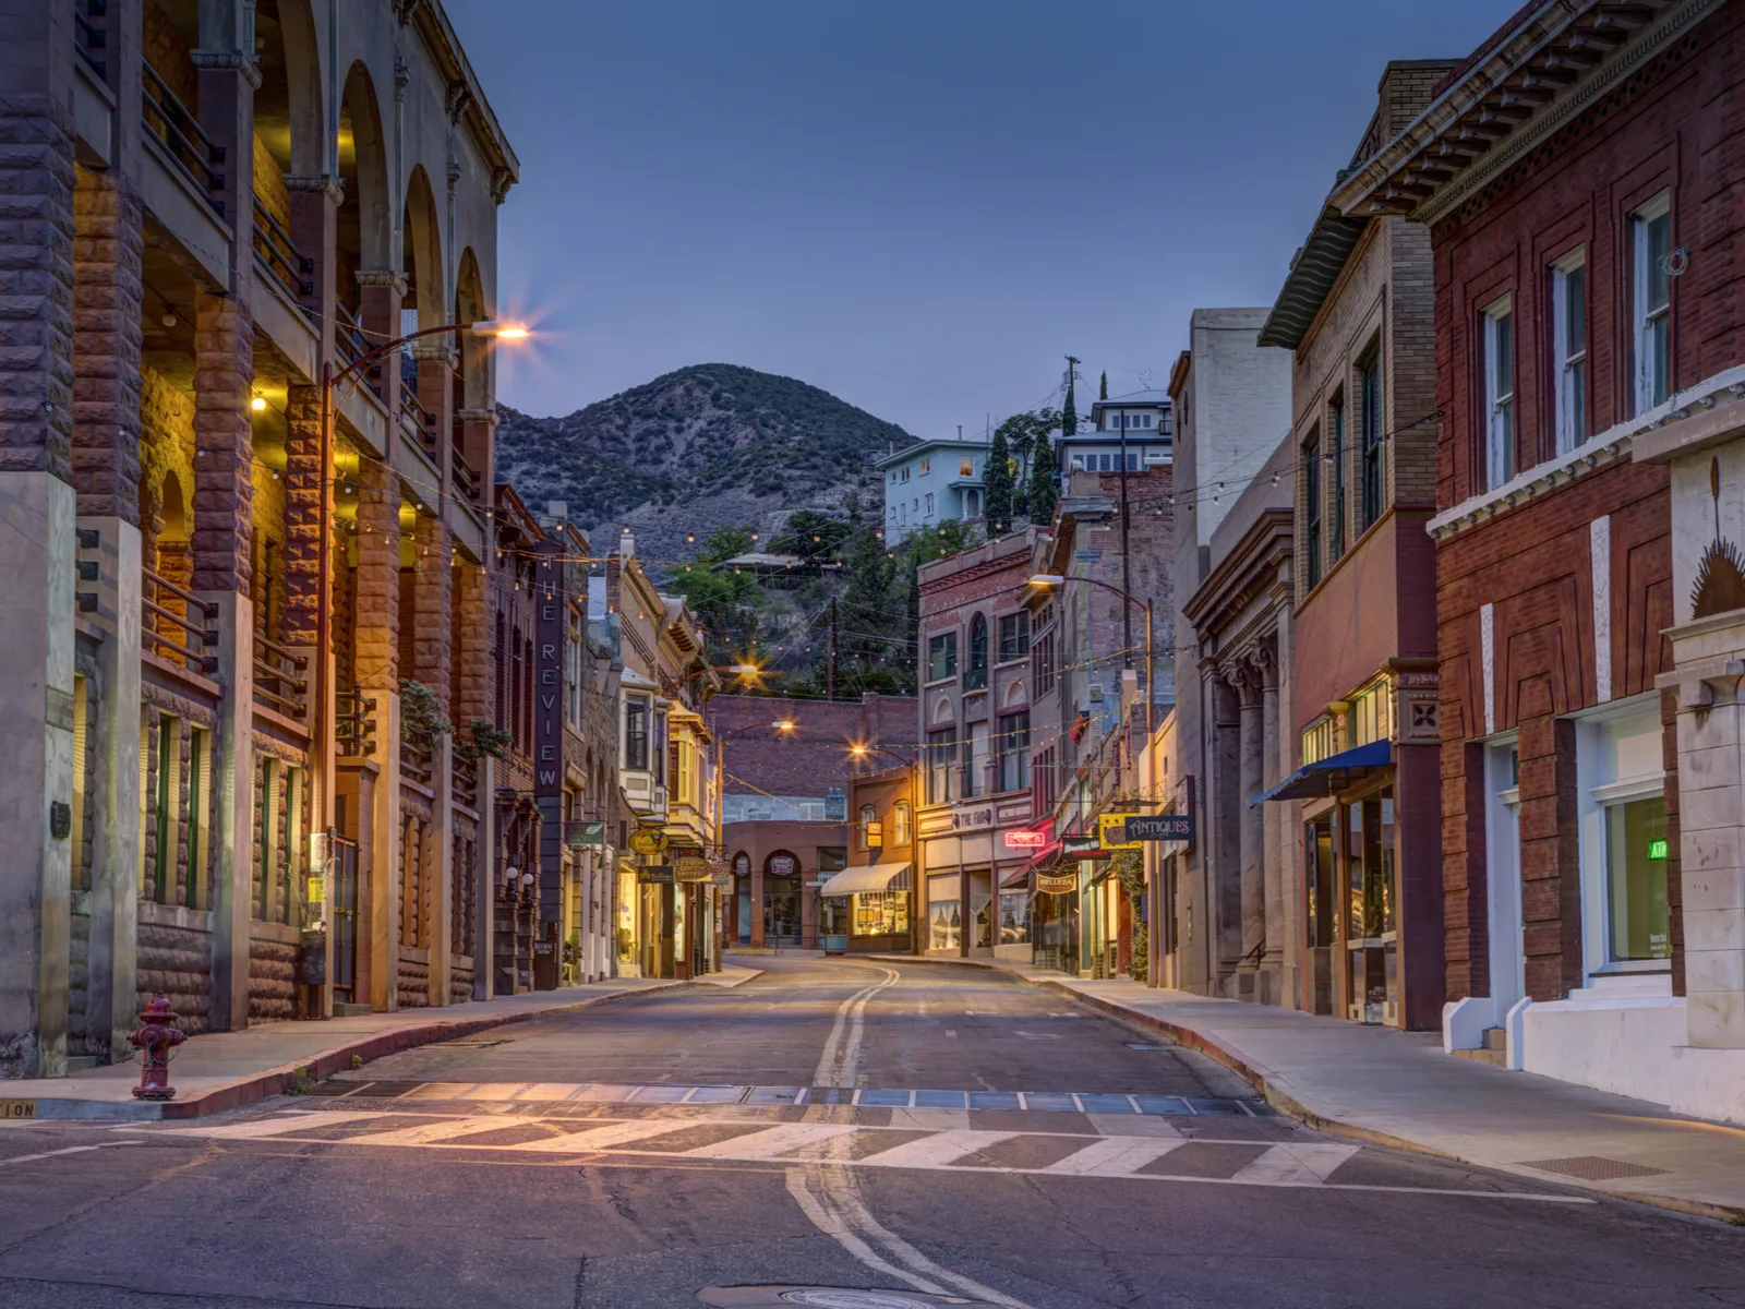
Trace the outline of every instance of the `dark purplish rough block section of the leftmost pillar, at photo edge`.
<path fill-rule="evenodd" d="M 73 138 L 49 96 L 0 96 L 0 471 L 72 482 Z"/>

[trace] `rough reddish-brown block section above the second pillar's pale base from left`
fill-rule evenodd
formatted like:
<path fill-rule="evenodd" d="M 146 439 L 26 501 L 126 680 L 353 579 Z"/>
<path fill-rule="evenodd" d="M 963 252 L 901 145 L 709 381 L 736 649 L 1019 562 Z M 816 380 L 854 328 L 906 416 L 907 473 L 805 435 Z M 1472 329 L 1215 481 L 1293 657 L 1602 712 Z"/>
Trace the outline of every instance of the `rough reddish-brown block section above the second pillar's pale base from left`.
<path fill-rule="evenodd" d="M 140 197 L 115 171 L 73 192 L 73 485 L 79 513 L 140 522 Z"/>

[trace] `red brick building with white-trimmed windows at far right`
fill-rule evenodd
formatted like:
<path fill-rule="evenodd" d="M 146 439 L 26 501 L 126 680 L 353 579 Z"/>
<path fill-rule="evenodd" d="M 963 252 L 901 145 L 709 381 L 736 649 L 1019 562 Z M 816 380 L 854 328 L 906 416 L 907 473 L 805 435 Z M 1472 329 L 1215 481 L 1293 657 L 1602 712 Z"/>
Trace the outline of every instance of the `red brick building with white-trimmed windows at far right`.
<path fill-rule="evenodd" d="M 1433 244 L 1445 1042 L 1731 1115 L 1738 785 L 1691 750 L 1736 724 L 1742 52 L 1733 5 L 1529 7 L 1331 197 Z"/>

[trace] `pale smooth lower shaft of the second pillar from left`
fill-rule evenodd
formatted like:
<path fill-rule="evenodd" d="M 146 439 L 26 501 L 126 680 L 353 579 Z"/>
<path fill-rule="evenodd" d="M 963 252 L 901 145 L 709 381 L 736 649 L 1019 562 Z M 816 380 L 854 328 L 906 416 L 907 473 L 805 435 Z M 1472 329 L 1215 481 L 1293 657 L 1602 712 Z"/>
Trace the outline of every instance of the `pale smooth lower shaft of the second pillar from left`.
<path fill-rule="evenodd" d="M 120 518 L 80 518 L 96 531 L 101 562 L 98 613 L 96 822 L 91 850 L 91 953 L 86 983 L 86 1054 L 124 1063 L 134 1049 L 140 904 L 140 529 Z"/>

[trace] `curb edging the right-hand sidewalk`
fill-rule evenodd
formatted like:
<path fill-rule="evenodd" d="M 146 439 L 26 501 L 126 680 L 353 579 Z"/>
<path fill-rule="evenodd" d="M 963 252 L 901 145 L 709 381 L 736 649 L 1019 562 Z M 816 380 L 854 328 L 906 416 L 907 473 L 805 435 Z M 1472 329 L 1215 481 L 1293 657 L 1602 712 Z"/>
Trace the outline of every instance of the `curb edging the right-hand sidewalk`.
<path fill-rule="evenodd" d="M 1288 1089 L 1290 1084 L 1276 1072 L 1267 1068 L 1263 1063 L 1248 1059 L 1228 1045 L 1222 1044 L 1215 1037 L 1208 1037 L 1180 1023 L 1171 1023 L 1167 1018 L 1159 1018 L 1157 1014 L 1146 1014 L 1138 1009 L 1127 1009 L 1113 1000 L 1105 1000 L 1098 995 L 1087 995 L 1084 991 L 1073 990 L 1064 983 L 1052 981 L 1049 977 L 1030 977 L 1023 972 L 1016 972 L 1002 965 L 996 960 L 979 960 L 979 958 L 923 958 L 909 955 L 862 955 L 862 958 L 876 958 L 886 963 L 941 963 L 944 967 L 968 967 L 982 969 L 986 972 L 1000 972 L 1007 977 L 1024 983 L 1026 986 L 1038 986 L 1057 995 L 1078 1000 L 1098 1012 L 1117 1018 L 1129 1026 L 1141 1028 L 1145 1031 L 1169 1037 L 1173 1042 L 1183 1049 L 1197 1051 L 1206 1058 L 1222 1063 L 1225 1068 L 1234 1072 L 1244 1082 L 1253 1086 L 1272 1108 L 1279 1110 L 1288 1117 L 1297 1119 L 1305 1127 L 1316 1131 L 1324 1131 L 1328 1136 L 1344 1136 L 1351 1141 L 1361 1141 L 1365 1145 L 1380 1145 L 1389 1150 L 1405 1150 L 1408 1154 L 1422 1154 L 1433 1159 L 1448 1159 L 1457 1164 L 1471 1164 L 1473 1168 L 1490 1168 L 1499 1173 L 1511 1173 L 1515 1176 L 1532 1178 L 1534 1182 L 1551 1182 L 1553 1185 L 1564 1185 L 1570 1190 L 1586 1190 L 1597 1196 L 1605 1196 L 1609 1199 L 1633 1201 L 1637 1204 L 1649 1204 L 1656 1210 L 1672 1210 L 1673 1213 L 1684 1213 L 1694 1218 L 1714 1218 L 1717 1222 L 1729 1223 L 1733 1227 L 1745 1227 L 1745 1210 L 1731 1204 L 1710 1204 L 1708 1201 L 1693 1201 L 1680 1196 L 1658 1196 L 1653 1192 L 1640 1190 L 1618 1190 L 1614 1187 L 1604 1187 L 1597 1182 L 1583 1182 L 1579 1178 L 1546 1178 L 1537 1169 L 1523 1169 L 1515 1164 L 1499 1162 L 1495 1159 L 1482 1159 L 1466 1154 L 1448 1154 L 1447 1150 L 1438 1150 L 1431 1145 L 1422 1145 L 1420 1141 L 1406 1140 L 1405 1136 L 1394 1136 L 1393 1133 L 1377 1131 L 1375 1127 L 1365 1127 L 1358 1122 L 1345 1122 L 1342 1119 L 1330 1119 L 1324 1114 L 1317 1114 L 1297 1098 L 1297 1094 Z"/>

